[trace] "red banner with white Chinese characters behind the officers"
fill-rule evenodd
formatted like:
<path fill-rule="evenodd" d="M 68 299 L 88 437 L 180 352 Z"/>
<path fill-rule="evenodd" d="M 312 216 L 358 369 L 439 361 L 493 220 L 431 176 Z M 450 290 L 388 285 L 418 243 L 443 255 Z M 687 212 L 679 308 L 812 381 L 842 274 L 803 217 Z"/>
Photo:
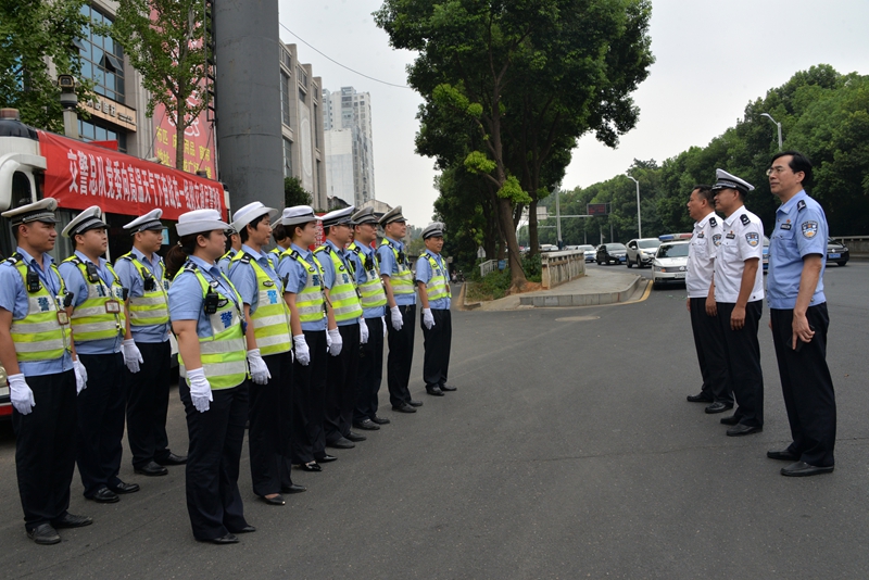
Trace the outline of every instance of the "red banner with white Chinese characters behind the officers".
<path fill-rule="evenodd" d="M 212 181 L 159 163 L 37 131 L 46 157 L 45 197 L 60 207 L 142 215 L 155 207 L 164 219 L 192 210 L 218 210 L 227 216 L 224 188 Z"/>

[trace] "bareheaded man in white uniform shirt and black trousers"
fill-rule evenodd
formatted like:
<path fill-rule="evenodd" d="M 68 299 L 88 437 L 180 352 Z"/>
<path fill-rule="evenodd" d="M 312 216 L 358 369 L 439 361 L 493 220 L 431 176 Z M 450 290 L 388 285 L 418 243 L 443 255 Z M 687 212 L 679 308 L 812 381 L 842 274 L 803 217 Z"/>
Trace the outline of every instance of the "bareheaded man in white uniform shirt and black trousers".
<path fill-rule="evenodd" d="M 723 337 L 713 290 L 715 253 L 721 243 L 721 224 L 715 215 L 709 186 L 695 186 L 688 199 L 688 213 L 694 219 L 694 231 L 688 247 L 688 312 L 694 333 L 694 348 L 703 377 L 700 394 L 689 395 L 692 403 L 711 403 L 706 413 L 723 413 L 733 408 L 733 392 L 727 374 Z M 708 306 L 708 312 L 707 312 Z"/>

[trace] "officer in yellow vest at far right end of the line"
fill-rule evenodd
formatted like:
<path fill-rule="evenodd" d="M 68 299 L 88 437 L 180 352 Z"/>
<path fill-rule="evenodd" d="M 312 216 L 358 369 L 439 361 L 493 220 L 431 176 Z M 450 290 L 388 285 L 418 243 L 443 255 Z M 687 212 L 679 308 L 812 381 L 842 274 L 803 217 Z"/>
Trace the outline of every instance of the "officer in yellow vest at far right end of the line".
<path fill-rule="evenodd" d="M 434 396 L 455 391 L 455 387 L 446 384 L 453 323 L 450 315 L 450 275 L 441 255 L 443 229 L 441 222 L 426 226 L 423 230 L 426 251 L 416 261 L 416 287 L 423 306 L 420 326 L 426 351 L 423 380 L 426 382 L 426 392 Z"/>

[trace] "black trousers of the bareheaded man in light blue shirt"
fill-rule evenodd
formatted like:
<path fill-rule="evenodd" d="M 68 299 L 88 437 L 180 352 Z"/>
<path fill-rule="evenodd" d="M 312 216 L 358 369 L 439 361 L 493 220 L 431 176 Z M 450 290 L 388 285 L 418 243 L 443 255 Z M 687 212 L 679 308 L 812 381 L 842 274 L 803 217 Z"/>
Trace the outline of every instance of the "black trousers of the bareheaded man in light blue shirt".
<path fill-rule="evenodd" d="M 794 311 L 770 310 L 769 314 L 781 391 L 794 440 L 789 450 L 809 465 L 830 467 L 835 464 L 835 393 L 827 366 L 827 329 L 830 326 L 827 304 L 809 306 L 806 311 L 815 336 L 810 342 L 803 343 L 799 352 L 791 348 Z"/>

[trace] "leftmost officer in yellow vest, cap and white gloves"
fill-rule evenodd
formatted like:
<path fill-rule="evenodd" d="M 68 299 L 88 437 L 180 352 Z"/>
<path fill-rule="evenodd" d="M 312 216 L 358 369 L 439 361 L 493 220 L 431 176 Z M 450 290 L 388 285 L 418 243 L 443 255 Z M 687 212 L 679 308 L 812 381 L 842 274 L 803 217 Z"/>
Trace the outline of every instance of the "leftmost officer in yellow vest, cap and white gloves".
<path fill-rule="evenodd" d="M 3 212 L 17 248 L 0 263 L 0 363 L 15 430 L 15 472 L 27 537 L 56 544 L 58 529 L 89 526 L 70 507 L 76 453 L 76 394 L 87 371 L 75 356 L 68 297 L 49 251 L 58 232 L 54 199 Z"/>

